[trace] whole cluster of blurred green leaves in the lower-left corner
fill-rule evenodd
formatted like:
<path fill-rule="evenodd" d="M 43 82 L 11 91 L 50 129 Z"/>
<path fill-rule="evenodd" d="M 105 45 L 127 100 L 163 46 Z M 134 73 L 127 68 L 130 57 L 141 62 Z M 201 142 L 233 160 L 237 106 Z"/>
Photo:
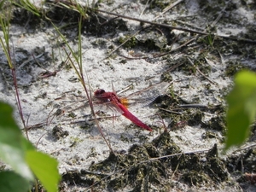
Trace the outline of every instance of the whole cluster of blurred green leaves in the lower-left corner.
<path fill-rule="evenodd" d="M 0 191 L 27 191 L 36 175 L 49 192 L 57 191 L 60 175 L 57 161 L 38 152 L 28 142 L 12 117 L 13 109 L 0 102 L 0 159 L 13 171 L 0 172 Z"/>

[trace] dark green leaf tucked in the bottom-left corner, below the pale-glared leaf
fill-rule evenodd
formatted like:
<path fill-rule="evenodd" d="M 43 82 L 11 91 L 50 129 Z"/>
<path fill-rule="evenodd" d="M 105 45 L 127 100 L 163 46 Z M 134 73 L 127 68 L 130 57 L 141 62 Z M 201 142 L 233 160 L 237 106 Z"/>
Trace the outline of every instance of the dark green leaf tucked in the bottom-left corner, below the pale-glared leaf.
<path fill-rule="evenodd" d="M 26 192 L 31 188 L 29 182 L 15 172 L 0 172 L 1 192 Z"/>

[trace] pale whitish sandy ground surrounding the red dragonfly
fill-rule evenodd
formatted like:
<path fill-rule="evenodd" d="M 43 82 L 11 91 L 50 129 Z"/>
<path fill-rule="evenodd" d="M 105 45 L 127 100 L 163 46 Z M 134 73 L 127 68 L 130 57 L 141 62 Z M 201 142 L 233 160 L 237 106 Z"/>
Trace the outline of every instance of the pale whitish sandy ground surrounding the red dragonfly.
<path fill-rule="evenodd" d="M 157 1 L 153 2 L 150 3 L 149 1 L 147 4 L 147 1 L 103 1 L 99 4 L 99 9 L 201 32 L 207 30 L 208 26 L 212 26 L 212 28 L 215 27 L 213 31 L 219 36 L 239 38 L 243 34 L 250 34 L 252 29 L 255 32 L 255 3 L 253 1 L 223 1 L 223 3 L 199 0 L 178 1 L 180 3 L 166 12 L 163 10 L 174 1 L 162 1 L 159 4 L 155 3 Z M 36 4 L 41 6 L 38 2 Z M 90 5 L 91 2 L 89 1 L 88 4 Z M 44 9 L 47 9 L 46 5 L 44 5 Z M 88 25 L 84 26 L 82 32 L 84 79 L 86 84 L 90 84 L 90 91 L 98 88 L 112 91 L 112 84 L 114 90 L 119 91 L 132 85 L 133 89 L 123 93 L 123 95 L 129 95 L 156 84 L 155 90 L 160 90 L 161 93 L 167 93 L 169 96 L 172 96 L 172 92 L 180 101 L 205 105 L 208 108 L 224 107 L 224 96 L 232 86 L 232 76 L 227 75 L 227 66 L 230 66 L 231 63 L 235 68 L 241 66 L 255 68 L 255 51 L 254 55 L 250 53 L 252 49 L 255 50 L 255 44 L 244 43 L 246 53 L 241 53 L 241 44 L 237 45 L 237 48 L 236 45 L 231 45 L 232 42 L 229 38 L 224 38 L 223 42 L 226 46 L 218 45 L 216 49 L 214 49 L 214 43 L 209 49 L 211 45 L 202 44 L 204 43 L 202 40 L 201 43 L 194 41 L 184 46 L 183 49 L 175 51 L 177 47 L 184 44 L 189 38 L 193 38 L 195 34 L 182 30 L 172 30 L 171 32 L 170 29 L 165 29 L 162 31 L 163 28 L 160 26 L 151 29 L 152 33 L 150 33 L 142 30 L 140 22 L 127 19 L 115 20 L 117 26 L 112 29 L 111 25 L 114 22 L 109 24 L 108 20 L 113 17 L 99 12 L 98 19 L 100 21 L 106 20 L 107 24 L 101 23 L 98 31 L 90 30 L 92 23 L 96 22 L 96 20 L 91 19 L 91 26 L 87 23 Z M 150 25 L 145 24 L 144 27 L 146 26 Z M 22 111 L 27 125 L 31 127 L 28 131 L 30 141 L 39 150 L 51 154 L 59 160 L 61 174 L 74 170 L 86 170 L 92 163 L 108 158 L 108 145 L 102 139 L 92 120 L 78 75 L 72 67 L 69 69 L 67 66 L 60 67 L 61 62 L 67 60 L 67 55 L 61 46 L 62 39 L 55 28 L 48 25 L 32 26 L 30 22 L 21 22 L 20 24 L 14 22 L 9 30 Z M 138 32 L 139 30 L 142 32 Z M 78 49 L 77 27 L 68 26 L 63 32 L 65 32 L 68 44 L 76 51 Z M 138 32 L 136 37 L 139 40 L 145 36 L 149 38 L 152 36 L 150 39 L 154 41 L 154 48 L 147 48 L 148 45 L 140 40 L 139 46 L 122 46 L 108 57 L 108 54 L 120 44 L 119 39 L 131 36 L 136 32 Z M 3 36 L 3 32 L 0 31 L 0 35 Z M 197 38 L 201 37 L 198 36 Z M 168 43 L 164 43 L 163 49 L 157 40 L 161 42 L 161 39 L 166 38 L 168 38 Z M 246 38 L 251 39 L 249 35 Z M 236 44 L 237 41 L 233 41 L 233 43 Z M 174 51 L 170 54 L 155 56 L 172 49 Z M 205 51 L 206 49 L 208 51 Z M 202 52 L 204 55 L 201 55 Z M 135 55 L 143 55 L 145 58 L 136 58 Z M 127 59 L 127 57 L 133 59 Z M 183 62 L 184 58 L 189 59 L 182 67 L 169 71 L 175 64 Z M 10 89 L 12 86 L 9 84 L 12 84 L 12 81 L 9 68 L 5 66 L 7 62 L 2 49 L 0 49 L 0 61 L 2 64 L 0 98 L 16 108 L 15 92 Z M 237 62 L 240 66 L 236 66 Z M 203 71 L 204 67 L 200 66 L 201 63 L 207 68 L 207 71 Z M 46 77 L 44 74 L 47 71 L 57 73 L 55 76 Z M 171 87 L 169 90 L 163 89 L 167 83 L 158 84 L 164 75 L 172 77 L 172 80 L 168 81 Z M 61 108 L 62 113 L 55 116 L 57 108 Z M 193 116 L 193 113 L 198 112 L 198 110 L 202 113 L 201 122 L 205 124 L 219 115 L 217 112 L 212 113 L 210 110 L 198 108 L 190 109 L 189 113 Z M 161 122 L 167 126 L 172 140 L 183 152 L 210 149 L 215 143 L 218 144 L 218 148 L 223 147 L 222 131 L 211 130 L 214 137 L 205 137 L 209 128 L 199 124 L 185 123 L 181 128 L 174 129 L 171 127 L 173 119 L 170 116 L 154 115 L 159 112 L 159 109 L 155 108 L 154 105 L 131 108 L 131 112 L 152 127 L 154 131 L 148 132 L 132 125 L 131 121 L 123 116 L 102 118 L 100 119 L 102 131 L 108 142 L 111 143 L 113 151 L 127 153 L 127 150 L 135 143 L 151 142 L 164 131 L 164 125 Z M 183 112 L 179 112 L 182 115 Z M 15 119 L 17 119 L 20 127 L 23 127 L 17 111 L 15 111 Z M 255 143 L 255 139 L 250 140 L 247 145 L 253 143 Z M 243 187 L 236 183 L 235 177 L 230 177 L 230 179 L 234 183 L 218 183 L 212 188 L 180 183 L 180 185 L 176 184 L 173 187 L 173 191 L 177 189 L 183 191 L 189 189 L 196 191 L 255 190 L 253 185 L 249 183 L 247 183 L 247 187 Z M 84 190 L 83 187 L 79 186 L 79 183 L 77 184 L 77 186 L 68 186 L 67 191 Z M 160 191 L 160 189 L 151 188 L 149 191 Z"/>

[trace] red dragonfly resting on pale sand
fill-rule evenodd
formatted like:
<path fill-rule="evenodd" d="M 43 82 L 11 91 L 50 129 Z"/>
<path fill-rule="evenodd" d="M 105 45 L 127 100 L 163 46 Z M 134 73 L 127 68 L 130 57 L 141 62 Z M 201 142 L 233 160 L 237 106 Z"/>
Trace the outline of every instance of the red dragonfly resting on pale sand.
<path fill-rule="evenodd" d="M 164 88 L 166 90 L 167 87 L 164 86 Z M 163 89 L 163 86 L 161 86 L 159 90 L 160 89 Z M 149 88 L 147 90 L 149 90 Z M 148 101 L 148 104 L 149 104 L 150 102 L 153 102 L 157 96 L 162 95 L 163 94 L 162 91 L 159 91 L 159 90 L 158 89 L 154 89 L 154 91 L 151 90 L 150 95 L 154 95 L 154 96 L 150 96 L 149 98 L 143 98 L 144 104 L 145 104 L 145 101 Z M 137 93 L 142 95 L 141 91 L 138 91 Z M 145 93 L 143 95 L 145 95 Z M 137 119 L 137 117 L 128 110 L 127 98 L 117 96 L 114 90 L 113 92 L 106 92 L 105 90 L 99 89 L 94 92 L 94 96 L 98 101 L 108 104 L 110 108 L 117 109 L 119 113 L 124 115 L 125 118 L 130 119 L 131 122 L 134 123 L 135 125 L 138 125 L 145 130 L 152 131 L 152 129 L 148 125 L 144 124 L 140 119 Z"/>

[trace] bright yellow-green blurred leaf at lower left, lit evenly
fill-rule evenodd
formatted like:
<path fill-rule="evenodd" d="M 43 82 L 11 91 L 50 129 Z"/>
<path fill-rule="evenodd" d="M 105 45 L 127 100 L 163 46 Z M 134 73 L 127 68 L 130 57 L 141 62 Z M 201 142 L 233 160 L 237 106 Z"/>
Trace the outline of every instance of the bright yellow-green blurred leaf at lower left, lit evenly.
<path fill-rule="evenodd" d="M 26 152 L 26 162 L 48 192 L 56 192 L 60 175 L 58 162 L 47 154 L 35 150 Z"/>

